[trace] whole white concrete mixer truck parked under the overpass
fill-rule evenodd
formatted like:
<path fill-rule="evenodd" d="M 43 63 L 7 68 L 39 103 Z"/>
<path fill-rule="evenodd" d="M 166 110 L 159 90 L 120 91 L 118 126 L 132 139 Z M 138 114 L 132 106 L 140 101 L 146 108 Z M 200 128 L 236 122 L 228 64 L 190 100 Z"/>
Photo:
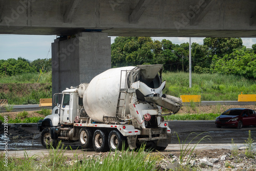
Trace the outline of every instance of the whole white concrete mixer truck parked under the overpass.
<path fill-rule="evenodd" d="M 52 114 L 38 121 L 41 143 L 79 141 L 96 152 L 144 143 L 163 150 L 170 143 L 170 129 L 162 108 L 175 114 L 182 103 L 163 94 L 164 87 L 162 65 L 145 65 L 109 69 L 90 83 L 67 88 L 54 94 Z"/>

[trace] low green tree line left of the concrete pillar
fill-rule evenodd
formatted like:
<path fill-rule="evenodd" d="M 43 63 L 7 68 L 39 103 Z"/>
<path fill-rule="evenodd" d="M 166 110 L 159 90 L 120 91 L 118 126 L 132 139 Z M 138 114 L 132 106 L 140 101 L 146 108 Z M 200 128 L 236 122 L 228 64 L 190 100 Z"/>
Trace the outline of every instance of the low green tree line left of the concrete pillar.
<path fill-rule="evenodd" d="M 44 68 L 42 68 L 44 67 Z M 22 73 L 48 72 L 52 70 L 52 59 L 29 60 L 18 57 L 0 60 L 0 76 L 13 76 Z"/>

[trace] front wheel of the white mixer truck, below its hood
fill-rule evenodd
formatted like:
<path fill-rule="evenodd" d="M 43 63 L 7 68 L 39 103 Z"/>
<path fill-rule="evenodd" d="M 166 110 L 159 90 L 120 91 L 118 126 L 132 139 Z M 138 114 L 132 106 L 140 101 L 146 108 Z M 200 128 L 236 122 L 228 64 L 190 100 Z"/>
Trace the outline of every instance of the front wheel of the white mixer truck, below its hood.
<path fill-rule="evenodd" d="M 52 139 L 50 128 L 46 128 L 42 130 L 41 136 L 40 136 L 41 144 L 45 148 L 49 148 L 51 145 L 55 148 L 58 145 L 58 141 Z"/>

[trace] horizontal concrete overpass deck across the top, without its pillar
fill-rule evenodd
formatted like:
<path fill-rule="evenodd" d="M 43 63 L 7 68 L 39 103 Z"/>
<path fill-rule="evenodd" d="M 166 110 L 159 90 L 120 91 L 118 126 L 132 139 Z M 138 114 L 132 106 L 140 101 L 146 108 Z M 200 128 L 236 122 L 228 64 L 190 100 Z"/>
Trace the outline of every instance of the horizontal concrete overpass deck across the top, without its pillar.
<path fill-rule="evenodd" d="M 0 0 L 0 34 L 256 36 L 254 0 Z"/>

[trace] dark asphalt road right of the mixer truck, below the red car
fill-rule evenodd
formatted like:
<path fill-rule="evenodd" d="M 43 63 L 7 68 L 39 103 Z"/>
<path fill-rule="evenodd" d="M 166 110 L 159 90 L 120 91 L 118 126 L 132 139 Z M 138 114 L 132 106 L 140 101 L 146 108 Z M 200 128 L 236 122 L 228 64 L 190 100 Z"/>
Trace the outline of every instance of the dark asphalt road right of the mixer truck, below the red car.
<path fill-rule="evenodd" d="M 174 134 L 172 136 L 172 143 L 178 143 L 178 136 L 181 141 L 189 143 L 198 134 L 198 138 L 193 140 L 196 143 L 200 138 L 209 136 L 210 139 L 205 139 L 201 143 L 231 143 L 233 139 L 234 143 L 245 143 L 248 138 L 248 132 L 251 131 L 251 138 L 256 139 L 256 127 L 247 126 L 242 127 L 241 130 L 231 127 L 217 128 L 215 121 L 168 121 L 169 127 Z M 178 136 L 177 136 L 177 134 Z"/>

